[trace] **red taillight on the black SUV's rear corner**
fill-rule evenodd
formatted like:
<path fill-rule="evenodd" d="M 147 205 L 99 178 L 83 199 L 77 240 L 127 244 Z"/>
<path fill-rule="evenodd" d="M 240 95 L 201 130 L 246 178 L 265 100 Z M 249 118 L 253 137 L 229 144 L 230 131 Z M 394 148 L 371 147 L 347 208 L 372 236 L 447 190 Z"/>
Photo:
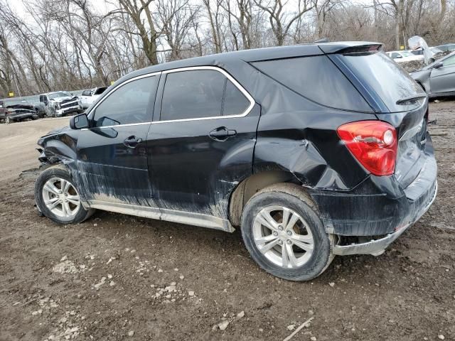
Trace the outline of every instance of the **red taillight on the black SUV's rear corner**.
<path fill-rule="evenodd" d="M 374 175 L 392 175 L 397 158 L 397 131 L 382 121 L 343 124 L 338 136 L 355 158 Z"/>

